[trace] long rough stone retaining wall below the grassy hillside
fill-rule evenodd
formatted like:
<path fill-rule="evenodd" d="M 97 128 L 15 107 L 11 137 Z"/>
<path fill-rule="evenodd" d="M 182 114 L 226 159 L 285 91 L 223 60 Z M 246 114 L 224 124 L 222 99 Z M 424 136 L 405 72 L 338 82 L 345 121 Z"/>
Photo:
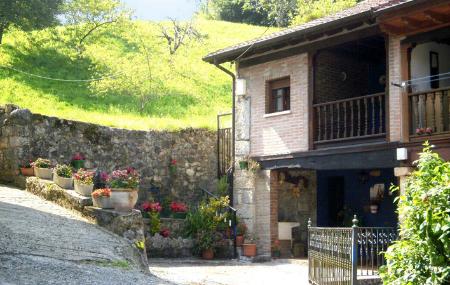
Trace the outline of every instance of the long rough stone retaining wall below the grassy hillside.
<path fill-rule="evenodd" d="M 151 185 L 162 197 L 195 203 L 199 187 L 214 190 L 216 135 L 203 129 L 132 131 L 32 114 L 13 105 L 0 107 L 0 181 L 13 182 L 20 161 L 37 157 L 70 163 L 76 152 L 86 167 L 111 172 L 132 166 L 141 174 L 141 199 Z M 177 161 L 176 172 L 168 166 Z"/>

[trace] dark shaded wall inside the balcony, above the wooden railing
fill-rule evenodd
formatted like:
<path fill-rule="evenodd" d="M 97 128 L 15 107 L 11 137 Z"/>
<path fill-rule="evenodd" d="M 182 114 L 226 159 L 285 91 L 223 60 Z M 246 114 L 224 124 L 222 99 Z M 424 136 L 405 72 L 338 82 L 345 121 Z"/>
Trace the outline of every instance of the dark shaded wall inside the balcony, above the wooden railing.
<path fill-rule="evenodd" d="M 325 50 L 314 61 L 314 103 L 369 94 L 368 65 L 354 55 Z M 347 74 L 345 81 L 342 72 Z"/>

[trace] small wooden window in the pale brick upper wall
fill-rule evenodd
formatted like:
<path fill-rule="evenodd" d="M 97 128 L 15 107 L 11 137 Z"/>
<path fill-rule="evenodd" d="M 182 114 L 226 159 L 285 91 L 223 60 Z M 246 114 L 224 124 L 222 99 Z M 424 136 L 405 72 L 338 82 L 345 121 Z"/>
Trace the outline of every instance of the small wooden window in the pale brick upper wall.
<path fill-rule="evenodd" d="M 266 113 L 287 111 L 290 106 L 290 80 L 289 78 L 269 81 L 266 94 Z"/>

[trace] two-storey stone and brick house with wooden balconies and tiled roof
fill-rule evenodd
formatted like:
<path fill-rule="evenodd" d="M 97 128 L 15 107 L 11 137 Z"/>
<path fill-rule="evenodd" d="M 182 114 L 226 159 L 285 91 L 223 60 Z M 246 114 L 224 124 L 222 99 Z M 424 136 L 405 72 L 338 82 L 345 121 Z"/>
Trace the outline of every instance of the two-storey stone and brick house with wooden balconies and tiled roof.
<path fill-rule="evenodd" d="M 389 187 L 422 143 L 450 158 L 450 1 L 366 0 L 204 60 L 235 84 L 233 203 L 259 254 L 301 255 L 308 218 L 396 226 Z"/>

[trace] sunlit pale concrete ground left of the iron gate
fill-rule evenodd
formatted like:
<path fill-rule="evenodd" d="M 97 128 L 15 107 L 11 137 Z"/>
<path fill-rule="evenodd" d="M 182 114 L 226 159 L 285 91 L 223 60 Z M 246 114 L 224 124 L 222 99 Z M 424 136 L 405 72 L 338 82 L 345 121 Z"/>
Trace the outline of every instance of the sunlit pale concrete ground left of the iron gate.
<path fill-rule="evenodd" d="M 308 261 L 267 263 L 230 260 L 150 259 L 152 274 L 183 285 L 307 285 Z"/>

